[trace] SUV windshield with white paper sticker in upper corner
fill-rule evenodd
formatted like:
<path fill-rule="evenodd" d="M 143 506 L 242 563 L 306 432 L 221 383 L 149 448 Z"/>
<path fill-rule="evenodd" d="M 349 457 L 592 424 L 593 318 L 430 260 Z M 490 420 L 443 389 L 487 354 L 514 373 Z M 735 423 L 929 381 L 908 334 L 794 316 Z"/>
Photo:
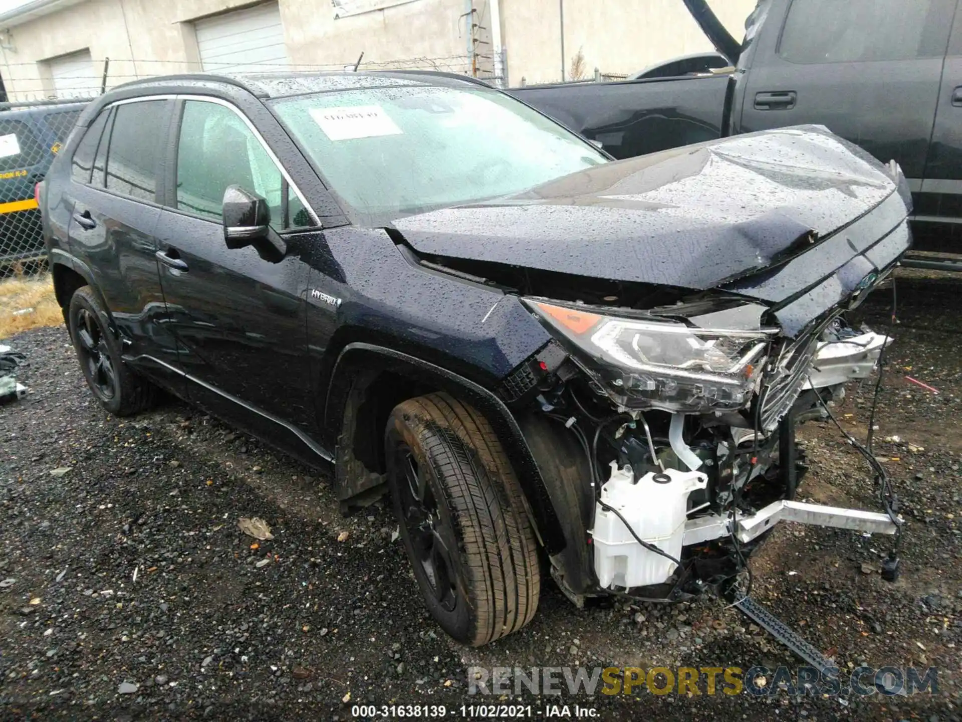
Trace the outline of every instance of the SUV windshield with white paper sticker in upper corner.
<path fill-rule="evenodd" d="M 370 225 L 519 193 L 607 157 L 485 88 L 364 88 L 279 99 L 277 115 Z"/>

